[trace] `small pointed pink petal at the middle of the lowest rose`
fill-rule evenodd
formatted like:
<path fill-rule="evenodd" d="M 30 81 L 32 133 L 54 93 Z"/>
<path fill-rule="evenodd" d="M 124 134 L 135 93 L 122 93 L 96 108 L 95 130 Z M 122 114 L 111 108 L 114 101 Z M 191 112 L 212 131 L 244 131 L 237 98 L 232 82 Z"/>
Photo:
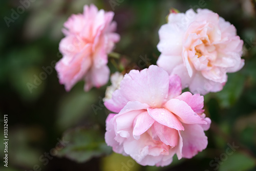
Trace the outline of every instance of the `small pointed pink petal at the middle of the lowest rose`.
<path fill-rule="evenodd" d="M 179 119 L 166 109 L 147 109 L 148 114 L 158 123 L 176 130 L 184 130 Z"/>

